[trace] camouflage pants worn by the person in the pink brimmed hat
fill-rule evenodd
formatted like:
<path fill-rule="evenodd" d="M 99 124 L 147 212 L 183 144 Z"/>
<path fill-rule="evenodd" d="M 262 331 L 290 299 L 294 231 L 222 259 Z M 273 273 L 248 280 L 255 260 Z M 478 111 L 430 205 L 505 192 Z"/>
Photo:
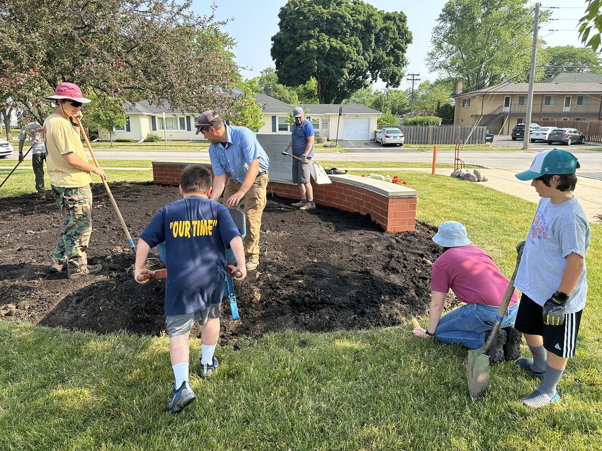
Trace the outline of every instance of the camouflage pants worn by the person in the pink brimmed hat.
<path fill-rule="evenodd" d="M 52 260 L 68 263 L 67 271 L 73 272 L 88 263 L 85 251 L 92 233 L 92 189 L 90 185 L 81 188 L 51 187 L 63 216 L 63 232 L 52 253 Z"/>

